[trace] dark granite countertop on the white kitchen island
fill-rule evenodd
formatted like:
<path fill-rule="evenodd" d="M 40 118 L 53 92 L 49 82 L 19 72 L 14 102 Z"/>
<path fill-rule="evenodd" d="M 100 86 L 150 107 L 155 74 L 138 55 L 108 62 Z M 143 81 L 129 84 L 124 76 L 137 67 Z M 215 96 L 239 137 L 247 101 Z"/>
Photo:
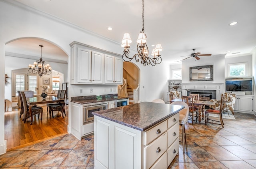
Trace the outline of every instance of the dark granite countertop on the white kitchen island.
<path fill-rule="evenodd" d="M 183 108 L 184 106 L 181 105 L 142 102 L 94 111 L 92 114 L 140 131 L 145 131 L 164 121 L 164 119 L 175 115 Z"/>

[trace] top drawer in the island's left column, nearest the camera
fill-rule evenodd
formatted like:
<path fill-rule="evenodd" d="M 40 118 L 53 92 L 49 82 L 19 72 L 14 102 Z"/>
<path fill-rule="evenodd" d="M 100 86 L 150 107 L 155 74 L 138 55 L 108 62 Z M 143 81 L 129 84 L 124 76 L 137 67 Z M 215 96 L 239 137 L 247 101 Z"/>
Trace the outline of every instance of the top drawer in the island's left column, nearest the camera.
<path fill-rule="evenodd" d="M 167 129 L 167 121 L 165 120 L 164 122 L 156 125 L 152 129 L 145 131 L 144 132 L 144 145 L 147 145 L 148 143 L 150 143 L 151 141 L 156 139 L 156 137 L 162 135 L 162 133 L 164 133 L 166 131 L 166 129 Z"/>

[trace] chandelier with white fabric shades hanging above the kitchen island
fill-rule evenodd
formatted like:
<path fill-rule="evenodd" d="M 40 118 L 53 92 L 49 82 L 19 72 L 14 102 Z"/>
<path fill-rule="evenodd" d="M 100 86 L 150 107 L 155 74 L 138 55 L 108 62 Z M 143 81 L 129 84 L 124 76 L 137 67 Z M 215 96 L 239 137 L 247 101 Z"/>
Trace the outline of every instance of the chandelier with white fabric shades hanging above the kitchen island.
<path fill-rule="evenodd" d="M 130 34 L 125 33 L 124 38 L 122 39 L 121 46 L 124 47 L 124 54 L 122 55 L 123 60 L 125 62 L 130 62 L 133 58 L 135 58 L 136 62 L 140 62 L 143 64 L 143 66 L 146 65 L 152 65 L 155 66 L 156 64 L 160 64 L 162 62 L 161 55 L 159 54 L 160 51 L 162 51 L 161 44 L 157 44 L 156 48 L 153 49 L 151 55 L 153 57 L 148 56 L 148 46 L 146 44 L 147 36 L 144 34 L 144 0 L 142 0 L 142 31 L 140 31 L 138 39 L 137 39 L 137 51 L 138 53 L 135 54 L 132 58 L 129 58 L 130 53 L 130 43 L 132 43 L 132 40 L 130 38 Z M 141 60 L 141 61 L 140 61 Z"/>

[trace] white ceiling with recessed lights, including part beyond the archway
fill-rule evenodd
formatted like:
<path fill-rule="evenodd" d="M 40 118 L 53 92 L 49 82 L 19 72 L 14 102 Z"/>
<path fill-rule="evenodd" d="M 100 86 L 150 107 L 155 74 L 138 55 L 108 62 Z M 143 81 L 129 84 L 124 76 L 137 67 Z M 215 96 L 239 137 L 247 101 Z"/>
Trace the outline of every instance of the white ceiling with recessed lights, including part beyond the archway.
<path fill-rule="evenodd" d="M 142 30 L 141 0 L 16 1 L 120 44 L 123 34 L 130 33 L 131 49 L 136 50 Z M 184 59 L 180 56 L 190 55 L 194 48 L 201 54 L 212 54 L 200 58 L 248 54 L 256 46 L 255 6 L 256 0 L 144 0 L 144 30 L 149 51 L 153 49 L 151 45 L 162 44 L 162 60 L 170 63 Z M 229 26 L 234 21 L 238 24 Z M 112 31 L 107 30 L 109 26 Z M 40 56 L 38 42 L 34 43 L 33 39 L 26 45 L 14 41 L 6 46 L 6 52 L 16 53 L 19 49 L 24 55 L 32 56 L 35 52 Z M 57 60 L 62 56 L 66 57 L 62 60 L 68 60 L 57 46 L 51 48 L 60 56 Z M 120 47 L 120 54 L 122 51 Z M 42 53 L 49 52 L 50 49 L 42 48 Z"/>

